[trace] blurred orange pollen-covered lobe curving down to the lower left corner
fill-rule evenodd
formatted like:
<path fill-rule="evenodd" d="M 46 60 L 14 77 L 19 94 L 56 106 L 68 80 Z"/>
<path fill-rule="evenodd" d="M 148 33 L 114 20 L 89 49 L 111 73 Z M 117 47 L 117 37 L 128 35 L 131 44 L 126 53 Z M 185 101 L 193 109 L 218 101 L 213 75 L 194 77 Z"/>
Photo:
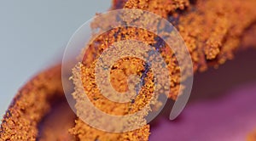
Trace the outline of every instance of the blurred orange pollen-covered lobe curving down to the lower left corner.
<path fill-rule="evenodd" d="M 0 140 L 36 140 L 38 124 L 51 101 L 63 97 L 61 66 L 35 76 L 22 87 L 9 106 L 0 128 Z"/>

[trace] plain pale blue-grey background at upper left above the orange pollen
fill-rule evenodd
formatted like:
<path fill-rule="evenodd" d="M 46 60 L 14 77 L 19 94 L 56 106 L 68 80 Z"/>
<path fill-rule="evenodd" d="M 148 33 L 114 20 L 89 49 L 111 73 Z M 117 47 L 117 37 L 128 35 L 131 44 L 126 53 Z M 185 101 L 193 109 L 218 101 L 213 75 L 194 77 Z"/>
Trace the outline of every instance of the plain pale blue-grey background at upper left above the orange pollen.
<path fill-rule="evenodd" d="M 111 0 L 0 0 L 0 119 L 18 89 L 62 54 L 80 25 L 110 5 Z"/>

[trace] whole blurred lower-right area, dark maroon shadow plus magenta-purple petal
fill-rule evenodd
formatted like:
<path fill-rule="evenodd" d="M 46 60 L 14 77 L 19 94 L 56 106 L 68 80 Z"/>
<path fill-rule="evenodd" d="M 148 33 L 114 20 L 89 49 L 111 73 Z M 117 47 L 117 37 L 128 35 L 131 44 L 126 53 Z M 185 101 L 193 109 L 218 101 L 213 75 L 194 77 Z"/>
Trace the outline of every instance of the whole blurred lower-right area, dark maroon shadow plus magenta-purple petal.
<path fill-rule="evenodd" d="M 256 50 L 195 75 L 189 104 L 175 121 L 166 106 L 152 123 L 150 141 L 241 141 L 256 130 Z"/>

